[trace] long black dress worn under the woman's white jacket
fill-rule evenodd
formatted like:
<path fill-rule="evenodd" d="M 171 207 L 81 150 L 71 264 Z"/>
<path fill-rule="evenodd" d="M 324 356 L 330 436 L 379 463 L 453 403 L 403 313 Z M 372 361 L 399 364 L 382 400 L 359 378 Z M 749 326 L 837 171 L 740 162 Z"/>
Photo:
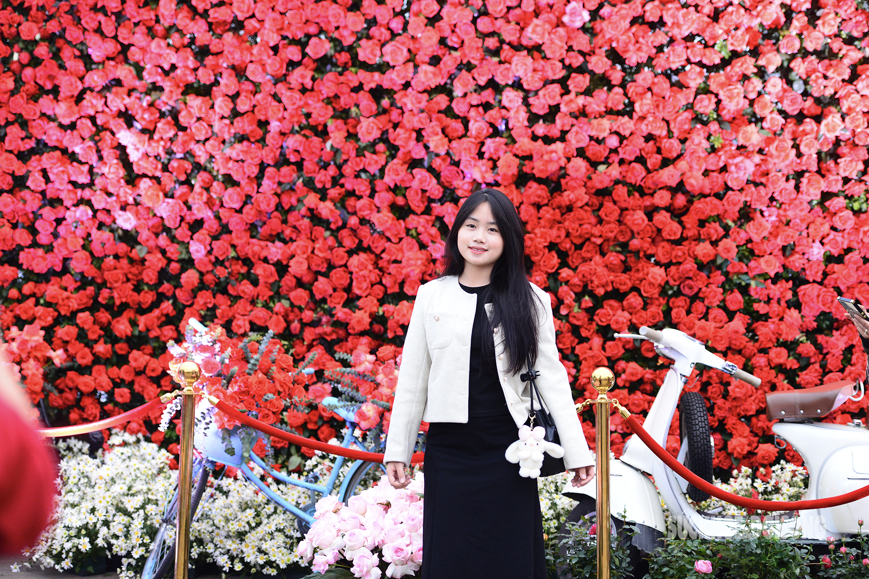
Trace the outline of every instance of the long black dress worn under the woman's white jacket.
<path fill-rule="evenodd" d="M 537 480 L 504 457 L 518 439 L 494 363 L 483 348 L 481 292 L 471 333 L 468 423 L 431 423 L 425 456 L 422 579 L 546 579 Z M 483 352 L 488 356 L 483 356 Z"/>

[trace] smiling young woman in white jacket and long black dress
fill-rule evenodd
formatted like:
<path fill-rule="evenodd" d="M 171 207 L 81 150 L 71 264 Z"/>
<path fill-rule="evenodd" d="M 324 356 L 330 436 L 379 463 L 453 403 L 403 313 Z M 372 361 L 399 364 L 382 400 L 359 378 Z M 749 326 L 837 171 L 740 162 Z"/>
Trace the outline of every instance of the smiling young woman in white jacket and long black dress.
<path fill-rule="evenodd" d="M 416 295 L 386 445 L 389 482 L 408 485 L 422 420 L 422 579 L 545 579 L 536 479 L 504 452 L 531 408 L 530 363 L 574 484 L 594 463 L 555 345 L 549 296 L 529 283 L 525 237 L 501 191 L 469 196 L 447 237 L 444 274 Z"/>

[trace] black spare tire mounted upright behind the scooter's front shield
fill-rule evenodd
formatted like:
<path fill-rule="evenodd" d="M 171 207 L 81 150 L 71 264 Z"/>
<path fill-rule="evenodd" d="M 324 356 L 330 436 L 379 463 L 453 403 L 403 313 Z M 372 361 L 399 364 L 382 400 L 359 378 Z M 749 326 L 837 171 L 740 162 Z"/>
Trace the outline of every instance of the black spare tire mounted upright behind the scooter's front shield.
<path fill-rule="evenodd" d="M 686 392 L 679 401 L 679 423 L 682 441 L 687 440 L 685 466 L 706 482 L 713 482 L 715 447 L 709 432 L 709 412 L 700 392 Z M 703 502 L 709 494 L 688 484 L 687 495 L 695 502 Z"/>

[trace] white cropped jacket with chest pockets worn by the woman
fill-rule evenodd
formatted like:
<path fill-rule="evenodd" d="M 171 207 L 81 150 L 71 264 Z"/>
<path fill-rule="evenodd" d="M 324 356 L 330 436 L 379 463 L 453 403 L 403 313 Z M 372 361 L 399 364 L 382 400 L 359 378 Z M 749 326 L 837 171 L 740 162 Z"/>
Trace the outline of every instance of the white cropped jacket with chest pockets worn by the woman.
<path fill-rule="evenodd" d="M 540 371 L 537 388 L 558 429 L 565 467 L 594 464 L 574 410 L 567 370 L 558 357 L 549 295 L 534 283 L 531 287 L 540 297 L 538 317 L 542 320 L 535 368 Z M 384 462 L 410 463 L 423 420 L 468 423 L 468 367 L 476 304 L 476 294 L 461 289 L 458 276 L 435 279 L 418 290 L 401 355 Z M 486 306 L 490 316 L 491 307 Z M 518 428 L 527 422 L 531 409 L 530 386 L 519 374 L 507 374 L 509 355 L 500 330 L 493 329 L 495 363 L 507 408 Z"/>

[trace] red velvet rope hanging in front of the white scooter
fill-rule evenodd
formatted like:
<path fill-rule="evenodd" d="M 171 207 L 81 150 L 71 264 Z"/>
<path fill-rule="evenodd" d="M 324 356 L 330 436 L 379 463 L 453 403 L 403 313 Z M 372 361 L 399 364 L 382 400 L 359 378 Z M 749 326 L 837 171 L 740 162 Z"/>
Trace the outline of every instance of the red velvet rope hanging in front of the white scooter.
<path fill-rule="evenodd" d="M 761 501 L 760 499 L 752 499 L 746 496 L 734 495 L 726 490 L 719 489 L 711 482 L 706 482 L 700 476 L 695 475 L 687 469 L 687 467 L 673 458 L 666 449 L 663 449 L 659 443 L 656 443 L 652 435 L 642 427 L 634 416 L 627 418 L 627 425 L 634 430 L 634 434 L 640 436 L 640 440 L 646 443 L 649 449 L 660 458 L 668 467 L 673 469 L 676 474 L 690 482 L 698 489 L 709 493 L 710 495 L 720 498 L 722 501 L 735 504 L 744 509 L 757 510 L 798 510 L 798 509 L 826 509 L 828 507 L 836 507 L 846 502 L 859 501 L 864 496 L 869 496 L 869 485 L 857 490 L 852 490 L 850 493 L 839 496 L 828 496 L 823 499 L 812 499 L 809 501 Z"/>

